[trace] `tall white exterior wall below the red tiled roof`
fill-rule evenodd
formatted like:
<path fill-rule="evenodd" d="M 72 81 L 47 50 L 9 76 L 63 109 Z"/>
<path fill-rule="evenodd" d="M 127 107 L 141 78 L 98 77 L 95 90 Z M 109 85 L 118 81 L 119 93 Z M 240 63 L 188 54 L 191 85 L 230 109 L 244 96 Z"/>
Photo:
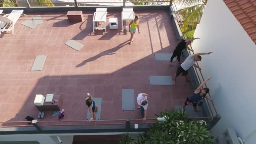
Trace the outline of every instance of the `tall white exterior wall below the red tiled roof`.
<path fill-rule="evenodd" d="M 208 0 L 193 42 L 195 53 L 213 52 L 199 62 L 221 119 L 215 136 L 235 128 L 245 144 L 255 144 L 256 45 L 223 0 Z"/>

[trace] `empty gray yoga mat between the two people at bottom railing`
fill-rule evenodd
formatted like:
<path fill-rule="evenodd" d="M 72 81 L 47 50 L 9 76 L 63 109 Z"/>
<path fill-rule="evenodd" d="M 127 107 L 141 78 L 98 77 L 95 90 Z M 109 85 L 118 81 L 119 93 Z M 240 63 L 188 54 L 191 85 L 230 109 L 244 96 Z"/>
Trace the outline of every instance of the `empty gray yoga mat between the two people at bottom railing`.
<path fill-rule="evenodd" d="M 122 110 L 135 110 L 134 89 L 122 89 Z"/>

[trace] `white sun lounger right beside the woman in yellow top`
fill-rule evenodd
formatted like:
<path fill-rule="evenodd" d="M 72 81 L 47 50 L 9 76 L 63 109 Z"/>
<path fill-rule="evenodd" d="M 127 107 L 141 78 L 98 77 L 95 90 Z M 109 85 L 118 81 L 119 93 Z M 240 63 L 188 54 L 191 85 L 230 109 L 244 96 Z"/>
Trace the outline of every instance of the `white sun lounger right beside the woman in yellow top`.
<path fill-rule="evenodd" d="M 124 29 L 129 28 L 129 26 L 126 26 L 125 20 L 134 20 L 134 18 L 135 18 L 133 8 L 132 7 L 123 8 L 121 17 L 122 17 L 122 30 L 121 31 L 123 31 Z"/>

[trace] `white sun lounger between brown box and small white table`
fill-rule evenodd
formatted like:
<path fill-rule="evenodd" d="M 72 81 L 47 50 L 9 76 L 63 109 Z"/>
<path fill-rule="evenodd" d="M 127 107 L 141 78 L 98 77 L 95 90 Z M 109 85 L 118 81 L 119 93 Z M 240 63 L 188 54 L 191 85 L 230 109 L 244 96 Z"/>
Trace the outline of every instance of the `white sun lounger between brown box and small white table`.
<path fill-rule="evenodd" d="M 107 24 L 107 8 L 96 8 L 96 12 L 93 14 L 93 27 L 92 31 L 94 32 L 95 29 L 105 29 L 105 32 L 107 31 L 106 29 L 106 24 Z M 95 24 L 98 22 L 104 22 L 104 26 L 96 26 Z"/>

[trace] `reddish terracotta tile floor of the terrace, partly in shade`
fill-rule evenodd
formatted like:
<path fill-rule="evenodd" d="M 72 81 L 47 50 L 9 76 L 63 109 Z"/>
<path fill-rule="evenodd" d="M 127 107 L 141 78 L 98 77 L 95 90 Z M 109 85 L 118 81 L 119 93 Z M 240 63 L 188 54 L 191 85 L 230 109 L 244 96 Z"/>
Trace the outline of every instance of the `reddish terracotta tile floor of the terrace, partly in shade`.
<path fill-rule="evenodd" d="M 36 94 L 54 93 L 64 99 L 65 120 L 84 120 L 86 93 L 102 97 L 101 119 L 140 118 L 135 111 L 121 110 L 122 88 L 150 95 L 148 118 L 181 105 L 193 89 L 178 77 L 177 86 L 149 85 L 150 75 L 172 76 L 177 62 L 157 62 L 154 53 L 171 53 L 177 45 L 167 11 L 138 11 L 140 34 L 129 45 L 129 32 L 121 32 L 121 11 L 108 12 L 118 17 L 118 29 L 92 33 L 93 12 L 83 12 L 84 22 L 69 23 L 63 13 L 27 13 L 15 25 L 14 35 L 0 38 L 0 121 L 24 121 L 37 117 L 33 104 Z M 21 25 L 41 15 L 43 24 L 34 29 Z M 108 22 L 107 22 L 108 24 Z M 76 51 L 64 43 L 74 39 L 85 45 Z M 31 72 L 35 56 L 47 55 L 43 70 Z M 44 120 L 57 120 L 46 112 Z"/>

